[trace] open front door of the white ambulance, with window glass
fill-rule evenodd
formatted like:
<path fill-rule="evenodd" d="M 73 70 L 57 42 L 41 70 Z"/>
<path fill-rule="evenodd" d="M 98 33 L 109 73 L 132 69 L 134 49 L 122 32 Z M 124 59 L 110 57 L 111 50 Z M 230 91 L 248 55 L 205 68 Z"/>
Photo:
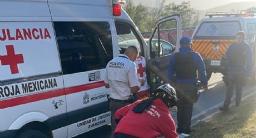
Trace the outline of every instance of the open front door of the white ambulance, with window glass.
<path fill-rule="evenodd" d="M 180 48 L 181 31 L 180 14 L 164 17 L 155 24 L 148 43 L 149 60 L 147 61 L 147 71 L 151 91 L 154 91 L 163 83 L 168 83 L 167 68 L 169 59 Z M 175 46 L 175 49 L 169 49 L 169 45 Z"/>

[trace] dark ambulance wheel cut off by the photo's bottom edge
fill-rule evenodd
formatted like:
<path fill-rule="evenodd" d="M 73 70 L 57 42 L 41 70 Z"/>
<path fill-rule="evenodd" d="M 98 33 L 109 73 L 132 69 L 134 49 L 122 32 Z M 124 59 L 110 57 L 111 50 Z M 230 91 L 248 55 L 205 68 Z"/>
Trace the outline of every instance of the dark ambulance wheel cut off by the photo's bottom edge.
<path fill-rule="evenodd" d="M 38 130 L 25 130 L 17 135 L 17 138 L 49 138 L 46 134 Z"/>

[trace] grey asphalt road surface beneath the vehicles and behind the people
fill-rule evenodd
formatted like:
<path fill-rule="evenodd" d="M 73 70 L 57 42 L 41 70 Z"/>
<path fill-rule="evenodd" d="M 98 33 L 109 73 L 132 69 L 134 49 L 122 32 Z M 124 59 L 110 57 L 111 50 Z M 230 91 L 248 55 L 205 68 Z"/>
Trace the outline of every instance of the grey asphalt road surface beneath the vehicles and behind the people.
<path fill-rule="evenodd" d="M 246 97 L 252 92 L 256 91 L 256 86 L 247 85 L 243 88 L 242 97 Z M 218 112 L 219 106 L 222 106 L 223 100 L 225 99 L 226 86 L 222 82 L 222 74 L 213 74 L 208 82 L 208 90 L 202 92 L 198 102 L 193 107 L 192 124 L 201 119 L 206 118 L 213 113 Z M 234 92 L 235 93 L 235 92 Z M 233 94 L 234 95 L 234 94 Z M 234 101 L 234 96 L 233 96 Z M 243 104 L 243 102 L 241 103 Z M 173 119 L 176 121 L 176 112 L 172 112 Z M 78 138 L 90 138 L 90 137 L 110 137 L 111 127 L 110 125 L 105 125 L 101 128 L 96 128 L 95 130 L 89 131 L 87 133 L 77 136 Z"/>

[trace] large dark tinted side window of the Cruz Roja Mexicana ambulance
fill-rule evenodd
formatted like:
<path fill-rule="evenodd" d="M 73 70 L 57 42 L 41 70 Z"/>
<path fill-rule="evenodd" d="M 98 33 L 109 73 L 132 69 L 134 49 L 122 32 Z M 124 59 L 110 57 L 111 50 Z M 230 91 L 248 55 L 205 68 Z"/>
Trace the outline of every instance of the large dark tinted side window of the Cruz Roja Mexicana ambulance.
<path fill-rule="evenodd" d="M 113 59 L 108 22 L 54 22 L 63 74 L 105 68 Z"/>

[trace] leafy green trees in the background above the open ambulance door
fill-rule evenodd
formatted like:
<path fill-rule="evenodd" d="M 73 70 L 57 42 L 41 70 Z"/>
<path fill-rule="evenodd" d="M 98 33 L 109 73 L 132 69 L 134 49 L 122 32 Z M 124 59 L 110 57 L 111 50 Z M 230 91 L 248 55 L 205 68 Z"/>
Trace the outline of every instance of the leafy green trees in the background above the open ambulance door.
<path fill-rule="evenodd" d="M 142 4 L 134 5 L 133 0 L 126 0 L 123 9 L 128 13 L 140 31 L 152 31 L 157 20 L 173 14 L 181 15 L 183 27 L 195 26 L 198 23 L 199 13 L 191 7 L 190 2 L 183 1 L 178 5 L 174 2 L 165 5 L 165 2 L 166 0 L 161 0 L 160 7 L 147 8 Z"/>

